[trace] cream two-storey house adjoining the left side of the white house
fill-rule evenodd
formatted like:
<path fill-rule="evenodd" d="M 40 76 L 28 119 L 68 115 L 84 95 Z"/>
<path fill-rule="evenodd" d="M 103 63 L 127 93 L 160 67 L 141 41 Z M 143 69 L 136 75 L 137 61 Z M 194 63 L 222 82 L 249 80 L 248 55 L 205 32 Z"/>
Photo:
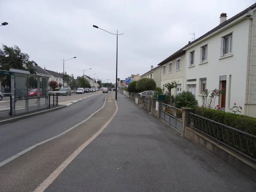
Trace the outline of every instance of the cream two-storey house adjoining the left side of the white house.
<path fill-rule="evenodd" d="M 186 47 L 186 46 L 185 46 Z M 185 90 L 185 51 L 183 49 L 178 50 L 162 62 L 158 64 L 161 68 L 161 88 L 163 91 L 167 91 L 165 87 L 166 83 L 171 83 L 172 81 L 177 82 L 177 88 L 172 90 L 172 95 L 177 95 Z"/>

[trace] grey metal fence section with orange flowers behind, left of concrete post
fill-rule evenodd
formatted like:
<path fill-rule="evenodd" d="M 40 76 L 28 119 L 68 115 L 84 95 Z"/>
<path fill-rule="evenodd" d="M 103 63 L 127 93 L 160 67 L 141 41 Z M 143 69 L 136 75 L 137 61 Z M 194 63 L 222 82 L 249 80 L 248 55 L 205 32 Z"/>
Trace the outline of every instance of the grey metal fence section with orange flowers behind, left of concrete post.
<path fill-rule="evenodd" d="M 182 109 L 175 108 L 171 105 L 161 103 L 161 119 L 169 123 L 177 131 L 181 132 L 182 128 Z"/>

